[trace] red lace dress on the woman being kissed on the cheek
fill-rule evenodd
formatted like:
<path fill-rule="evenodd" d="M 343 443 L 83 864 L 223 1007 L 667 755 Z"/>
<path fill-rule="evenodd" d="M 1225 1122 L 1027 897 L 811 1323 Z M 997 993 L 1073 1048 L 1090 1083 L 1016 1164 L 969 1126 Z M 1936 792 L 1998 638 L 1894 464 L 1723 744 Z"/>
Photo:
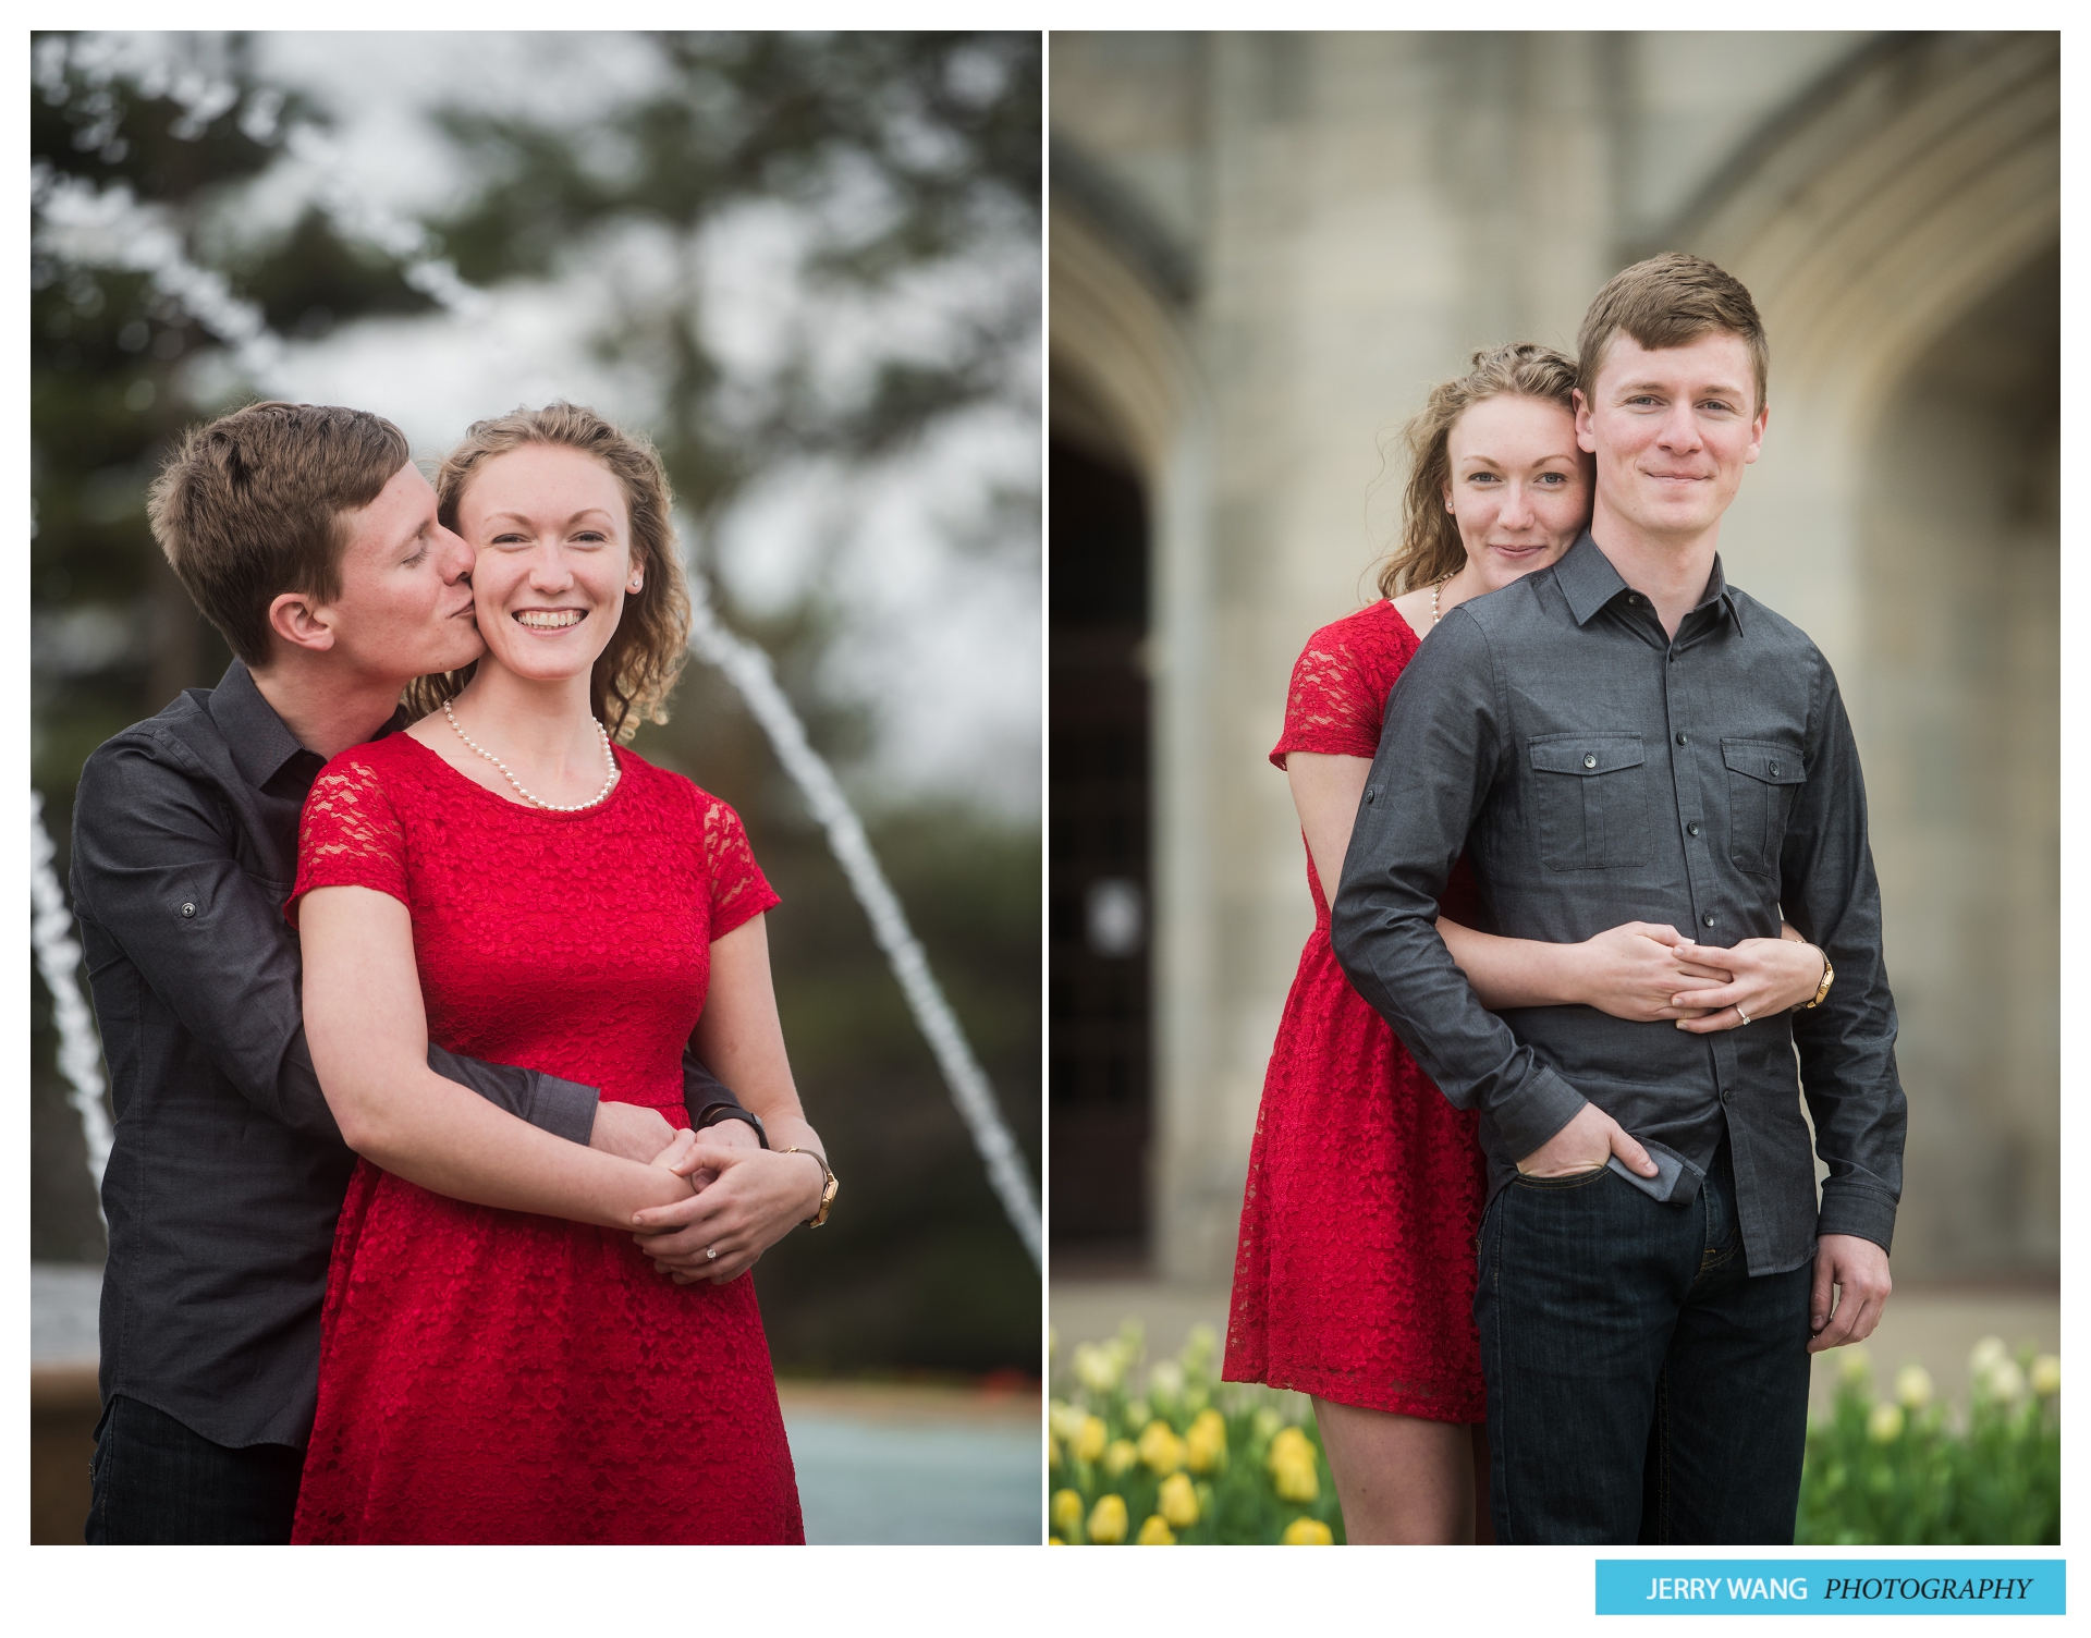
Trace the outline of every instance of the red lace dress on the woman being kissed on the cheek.
<path fill-rule="evenodd" d="M 485 791 L 408 734 L 312 787 L 289 914 L 414 916 L 429 1040 L 688 1125 L 711 941 L 776 904 L 738 814 L 631 751 L 583 814 Z M 673 1284 L 621 1230 L 355 1167 L 320 1333 L 297 1542 L 801 1542 L 746 1276 Z"/>

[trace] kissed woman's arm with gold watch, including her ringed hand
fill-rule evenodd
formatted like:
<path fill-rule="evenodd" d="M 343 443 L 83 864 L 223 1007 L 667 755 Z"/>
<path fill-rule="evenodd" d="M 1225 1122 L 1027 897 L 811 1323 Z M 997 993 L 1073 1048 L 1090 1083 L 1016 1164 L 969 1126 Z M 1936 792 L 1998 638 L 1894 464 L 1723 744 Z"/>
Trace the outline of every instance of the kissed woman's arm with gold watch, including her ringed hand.
<path fill-rule="evenodd" d="M 700 1140 L 675 1165 L 715 1167 L 717 1180 L 694 1201 L 642 1211 L 638 1241 L 654 1268 L 677 1282 L 723 1282 L 820 1211 L 826 1186 L 826 1171 L 807 1155 L 782 1153 L 811 1148 L 826 1159 L 828 1148 L 807 1125 L 784 1056 L 765 916 L 713 939 L 711 983 L 690 1040 L 705 1065 L 761 1117 L 769 1148 L 719 1148 Z M 707 1251 L 719 1255 L 707 1257 Z"/>

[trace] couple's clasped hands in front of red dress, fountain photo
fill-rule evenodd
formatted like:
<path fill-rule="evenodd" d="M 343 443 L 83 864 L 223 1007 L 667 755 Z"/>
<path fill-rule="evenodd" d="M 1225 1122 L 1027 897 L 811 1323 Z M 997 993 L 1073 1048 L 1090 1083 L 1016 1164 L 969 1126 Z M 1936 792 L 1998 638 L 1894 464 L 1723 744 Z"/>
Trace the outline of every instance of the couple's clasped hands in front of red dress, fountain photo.
<path fill-rule="evenodd" d="M 657 1109 L 604 1102 L 590 1146 L 688 1180 L 690 1199 L 648 1207 L 631 1220 L 640 1251 L 675 1284 L 740 1278 L 820 1211 L 822 1167 L 809 1155 L 763 1148 L 746 1121 L 675 1132 Z"/>

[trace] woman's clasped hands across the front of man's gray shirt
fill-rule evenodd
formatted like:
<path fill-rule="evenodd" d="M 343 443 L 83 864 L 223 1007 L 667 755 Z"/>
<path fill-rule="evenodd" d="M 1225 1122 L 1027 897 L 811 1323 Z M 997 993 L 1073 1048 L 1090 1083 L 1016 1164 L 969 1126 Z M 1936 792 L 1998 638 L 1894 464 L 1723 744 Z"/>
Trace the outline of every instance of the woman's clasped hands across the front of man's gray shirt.
<path fill-rule="evenodd" d="M 1577 1000 L 1635 1023 L 1675 1019 L 1694 1036 L 1800 1006 L 1823 971 L 1809 943 L 1740 939 L 1723 948 L 1648 920 L 1606 929 L 1577 952 Z"/>

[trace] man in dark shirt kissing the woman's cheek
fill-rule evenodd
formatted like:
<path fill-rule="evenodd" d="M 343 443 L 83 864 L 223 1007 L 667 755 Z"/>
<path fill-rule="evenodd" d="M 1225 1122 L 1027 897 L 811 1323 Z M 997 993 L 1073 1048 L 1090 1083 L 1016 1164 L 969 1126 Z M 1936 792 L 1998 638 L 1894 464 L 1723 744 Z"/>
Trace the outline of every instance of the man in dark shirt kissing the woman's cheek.
<path fill-rule="evenodd" d="M 217 688 L 102 745 L 73 807 L 73 908 L 117 1115 L 88 1540 L 286 1542 L 355 1161 L 299 1021 L 282 916 L 299 810 L 328 757 L 401 726 L 412 678 L 479 657 L 473 554 L 437 521 L 399 429 L 341 408 L 253 404 L 190 431 L 151 519 L 238 657 Z M 573 1142 L 650 1161 L 669 1140 L 659 1113 L 598 1105 L 588 1086 L 435 1046 L 429 1063 Z M 686 1079 L 698 1123 L 759 1140 L 700 1065 Z M 726 1195 L 707 1213 L 761 1220 L 765 1245 L 788 1228 L 776 1203 Z M 648 1241 L 682 1276 L 705 1261 L 694 1207 Z"/>

